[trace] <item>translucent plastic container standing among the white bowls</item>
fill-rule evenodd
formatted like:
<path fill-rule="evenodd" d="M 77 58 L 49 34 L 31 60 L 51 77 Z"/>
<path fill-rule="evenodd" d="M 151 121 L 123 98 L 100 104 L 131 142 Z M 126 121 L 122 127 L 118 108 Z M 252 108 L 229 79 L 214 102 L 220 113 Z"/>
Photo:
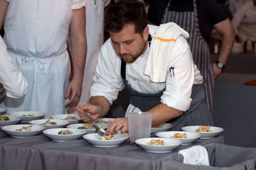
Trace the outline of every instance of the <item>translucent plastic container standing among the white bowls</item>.
<path fill-rule="evenodd" d="M 148 112 L 130 112 L 127 113 L 129 124 L 129 143 L 132 146 L 136 139 L 150 137 L 152 113 Z"/>

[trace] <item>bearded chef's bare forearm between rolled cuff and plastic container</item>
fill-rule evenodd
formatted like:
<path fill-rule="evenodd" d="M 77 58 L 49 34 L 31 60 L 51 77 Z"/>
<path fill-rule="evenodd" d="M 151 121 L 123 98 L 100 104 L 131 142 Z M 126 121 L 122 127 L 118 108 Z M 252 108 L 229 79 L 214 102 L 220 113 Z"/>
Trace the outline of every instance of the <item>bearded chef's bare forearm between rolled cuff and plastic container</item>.
<path fill-rule="evenodd" d="M 163 103 L 153 107 L 147 112 L 153 113 L 152 126 L 172 120 L 183 113 L 183 111 L 174 109 Z"/>

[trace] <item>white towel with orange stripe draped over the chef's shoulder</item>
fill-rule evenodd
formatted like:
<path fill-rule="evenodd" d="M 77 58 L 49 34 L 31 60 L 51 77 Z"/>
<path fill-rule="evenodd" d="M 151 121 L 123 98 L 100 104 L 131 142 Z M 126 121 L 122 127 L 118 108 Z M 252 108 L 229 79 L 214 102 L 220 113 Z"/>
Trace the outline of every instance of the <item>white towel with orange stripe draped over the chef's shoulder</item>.
<path fill-rule="evenodd" d="M 148 75 L 151 81 L 165 82 L 172 47 L 180 35 L 189 37 L 186 31 L 173 22 L 161 24 L 156 30 L 144 69 L 144 74 Z"/>

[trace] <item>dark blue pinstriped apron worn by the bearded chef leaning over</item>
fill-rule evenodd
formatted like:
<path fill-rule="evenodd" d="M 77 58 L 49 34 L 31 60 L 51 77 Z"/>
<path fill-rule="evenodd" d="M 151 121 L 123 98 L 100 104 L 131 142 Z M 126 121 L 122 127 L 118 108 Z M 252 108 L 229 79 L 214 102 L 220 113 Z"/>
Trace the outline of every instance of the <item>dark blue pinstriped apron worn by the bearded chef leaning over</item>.
<path fill-rule="evenodd" d="M 150 37 L 150 36 L 149 36 Z M 151 38 L 149 38 L 151 39 Z M 149 40 L 148 40 L 149 41 Z M 130 104 L 138 107 L 142 112 L 148 111 L 151 108 L 160 104 L 161 96 L 165 88 L 156 94 L 145 94 L 132 89 L 126 81 L 126 63 L 121 60 L 121 76 L 125 86 L 130 92 Z M 194 125 L 210 125 L 213 126 L 210 110 L 204 102 L 204 89 L 202 84 L 193 85 L 190 98 L 192 99 L 190 107 L 183 112 L 179 117 L 170 120 L 167 123 L 173 125 L 172 131 L 179 131 L 184 126 Z"/>

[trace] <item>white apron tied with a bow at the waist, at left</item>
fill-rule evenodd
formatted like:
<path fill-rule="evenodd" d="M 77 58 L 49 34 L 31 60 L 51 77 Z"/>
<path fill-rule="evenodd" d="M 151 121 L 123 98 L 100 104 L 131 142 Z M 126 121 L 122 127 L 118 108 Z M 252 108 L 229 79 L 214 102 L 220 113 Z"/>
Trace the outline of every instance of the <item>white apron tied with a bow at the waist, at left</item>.
<path fill-rule="evenodd" d="M 73 13 L 68 0 L 11 0 L 4 20 L 4 41 L 14 65 L 28 81 L 20 99 L 5 98 L 13 111 L 66 113 L 64 95 L 70 63 L 67 35 Z"/>

